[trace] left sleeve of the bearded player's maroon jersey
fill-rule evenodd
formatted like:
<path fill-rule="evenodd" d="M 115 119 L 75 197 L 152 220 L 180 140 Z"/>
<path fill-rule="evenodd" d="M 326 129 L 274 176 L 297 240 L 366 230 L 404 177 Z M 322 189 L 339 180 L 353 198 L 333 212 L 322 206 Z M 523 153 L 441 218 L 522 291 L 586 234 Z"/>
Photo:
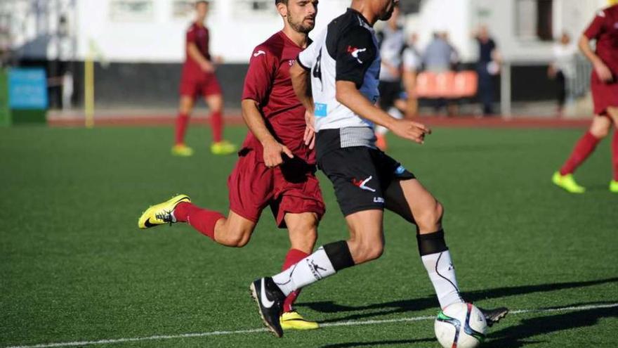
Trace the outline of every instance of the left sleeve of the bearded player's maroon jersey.
<path fill-rule="evenodd" d="M 258 103 L 268 98 L 277 69 L 275 57 L 267 49 L 256 47 L 251 53 L 249 70 L 244 78 L 242 99 L 251 99 Z"/>

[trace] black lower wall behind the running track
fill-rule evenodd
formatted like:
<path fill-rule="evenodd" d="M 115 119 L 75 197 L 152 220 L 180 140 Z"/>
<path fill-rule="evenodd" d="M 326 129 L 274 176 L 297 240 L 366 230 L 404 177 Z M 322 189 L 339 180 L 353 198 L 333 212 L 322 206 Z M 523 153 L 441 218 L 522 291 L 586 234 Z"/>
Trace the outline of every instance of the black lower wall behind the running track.
<path fill-rule="evenodd" d="M 74 76 L 73 107 L 83 106 L 84 62 L 63 63 L 54 60 L 23 60 L 22 66 L 45 66 L 48 72 L 54 69 L 72 70 Z M 239 108 L 242 84 L 248 65 L 243 63 L 223 64 L 217 76 L 223 89 L 226 108 Z M 95 65 L 95 94 L 97 108 L 176 108 L 181 64 L 178 63 L 110 63 L 103 67 Z M 464 64 L 461 69 L 473 69 Z M 554 82 L 546 77 L 547 65 L 512 67 L 513 101 L 546 101 L 555 98 Z M 495 84 L 495 101 L 498 102 L 499 78 Z M 51 86 L 50 105 L 60 108 L 60 86 Z"/>

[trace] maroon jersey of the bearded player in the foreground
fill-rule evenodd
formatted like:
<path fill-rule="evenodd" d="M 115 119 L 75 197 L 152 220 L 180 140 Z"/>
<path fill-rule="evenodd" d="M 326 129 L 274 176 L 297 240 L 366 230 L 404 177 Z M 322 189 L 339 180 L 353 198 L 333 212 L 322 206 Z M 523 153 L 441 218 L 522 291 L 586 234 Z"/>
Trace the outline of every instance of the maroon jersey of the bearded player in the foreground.
<path fill-rule="evenodd" d="M 275 138 L 287 146 L 294 156 L 313 165 L 313 150 L 309 150 L 303 142 L 305 108 L 294 94 L 289 75 L 290 67 L 302 50 L 283 32 L 277 32 L 256 46 L 249 60 L 242 99 L 258 102 Z M 243 148 L 258 151 L 258 158 L 263 161 L 263 148 L 251 131 L 245 138 Z"/>

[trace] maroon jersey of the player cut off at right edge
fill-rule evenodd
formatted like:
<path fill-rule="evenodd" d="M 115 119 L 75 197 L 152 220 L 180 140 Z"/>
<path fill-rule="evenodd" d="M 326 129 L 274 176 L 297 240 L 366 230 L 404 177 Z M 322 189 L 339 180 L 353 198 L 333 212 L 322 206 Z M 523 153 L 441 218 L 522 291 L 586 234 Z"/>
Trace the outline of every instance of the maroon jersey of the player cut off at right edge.
<path fill-rule="evenodd" d="M 584 35 L 596 39 L 596 55 L 618 77 L 618 5 L 599 11 Z"/>

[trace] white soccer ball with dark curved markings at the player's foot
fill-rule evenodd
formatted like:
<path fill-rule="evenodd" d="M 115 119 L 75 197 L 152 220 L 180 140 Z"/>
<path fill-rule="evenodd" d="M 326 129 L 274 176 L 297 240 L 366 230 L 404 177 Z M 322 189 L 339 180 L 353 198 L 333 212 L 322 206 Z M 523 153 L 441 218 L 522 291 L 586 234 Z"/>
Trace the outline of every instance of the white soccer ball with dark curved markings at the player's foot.
<path fill-rule="evenodd" d="M 485 340 L 487 322 L 471 303 L 455 303 L 440 311 L 433 326 L 445 348 L 474 348 Z"/>

